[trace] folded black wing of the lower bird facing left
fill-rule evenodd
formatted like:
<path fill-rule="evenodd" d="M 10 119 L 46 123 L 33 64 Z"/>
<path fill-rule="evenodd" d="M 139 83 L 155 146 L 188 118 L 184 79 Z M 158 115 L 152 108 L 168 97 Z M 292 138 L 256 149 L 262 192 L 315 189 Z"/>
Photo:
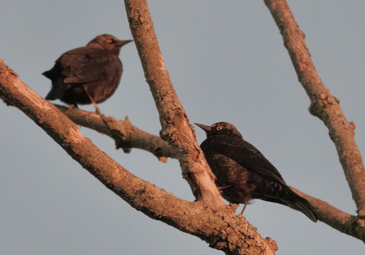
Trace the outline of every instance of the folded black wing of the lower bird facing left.
<path fill-rule="evenodd" d="M 209 147 L 233 159 L 249 171 L 265 176 L 276 182 L 285 183 L 281 174 L 262 153 L 241 137 L 214 136 Z"/>

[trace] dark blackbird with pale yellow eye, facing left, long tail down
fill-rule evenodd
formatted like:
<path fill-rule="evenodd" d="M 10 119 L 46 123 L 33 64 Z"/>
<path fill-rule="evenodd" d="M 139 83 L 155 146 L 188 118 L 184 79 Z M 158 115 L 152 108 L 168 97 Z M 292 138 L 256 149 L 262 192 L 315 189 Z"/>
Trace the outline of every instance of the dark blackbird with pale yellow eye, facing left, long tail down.
<path fill-rule="evenodd" d="M 262 199 L 318 220 L 311 204 L 287 186 L 277 169 L 232 124 L 195 125 L 207 133 L 200 147 L 217 178 L 215 184 L 228 202 L 245 204 L 241 214 L 251 199 Z"/>

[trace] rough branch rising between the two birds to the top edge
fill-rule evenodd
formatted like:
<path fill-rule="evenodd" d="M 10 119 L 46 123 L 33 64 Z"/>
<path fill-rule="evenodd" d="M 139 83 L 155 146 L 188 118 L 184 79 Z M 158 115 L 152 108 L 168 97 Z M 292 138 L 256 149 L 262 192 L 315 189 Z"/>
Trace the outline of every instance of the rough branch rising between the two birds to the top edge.
<path fill-rule="evenodd" d="M 125 0 L 125 4 L 145 77 L 160 115 L 160 135 L 180 152 L 179 161 L 183 175 L 192 187 L 195 197 L 225 207 L 226 204 L 214 184 L 215 176 L 197 144 L 194 129 L 164 66 L 147 3 L 145 0 Z"/>

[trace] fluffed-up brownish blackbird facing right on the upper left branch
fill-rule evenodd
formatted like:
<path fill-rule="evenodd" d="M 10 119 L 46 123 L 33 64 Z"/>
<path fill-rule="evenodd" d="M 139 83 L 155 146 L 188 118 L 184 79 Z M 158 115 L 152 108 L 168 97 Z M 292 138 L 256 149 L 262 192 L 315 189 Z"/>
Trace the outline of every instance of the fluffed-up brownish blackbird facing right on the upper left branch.
<path fill-rule="evenodd" d="M 128 42 L 103 34 L 92 39 L 85 47 L 61 55 L 53 68 L 42 73 L 52 81 L 47 100 L 60 99 L 73 104 L 101 103 L 114 94 L 122 76 L 120 48 Z"/>

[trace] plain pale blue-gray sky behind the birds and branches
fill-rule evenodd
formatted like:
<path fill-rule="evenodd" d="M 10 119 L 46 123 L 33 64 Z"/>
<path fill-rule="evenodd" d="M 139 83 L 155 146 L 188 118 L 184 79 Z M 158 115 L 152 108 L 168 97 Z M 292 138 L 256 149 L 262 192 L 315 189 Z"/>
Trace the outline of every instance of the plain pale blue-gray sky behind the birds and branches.
<path fill-rule="evenodd" d="M 341 99 L 365 152 L 364 1 L 288 1 L 306 34 L 324 85 Z M 233 123 L 291 186 L 355 214 L 333 142 L 308 112 L 283 39 L 264 1 L 149 1 L 174 89 L 190 121 Z M 12 0 L 0 10 L 0 57 L 45 96 L 41 75 L 65 51 L 108 33 L 132 39 L 123 1 Z M 158 134 L 160 123 L 135 45 L 122 48 L 120 87 L 102 113 Z M 57 102 L 57 101 L 55 101 Z M 57 102 L 59 103 L 59 102 Z M 93 106 L 81 106 L 93 111 Z M 131 208 L 72 160 L 34 122 L 0 102 L 0 254 L 223 254 L 195 236 Z M 81 127 L 128 171 L 192 201 L 177 160 L 115 150 L 111 138 Z M 197 138 L 205 139 L 197 129 Z M 286 206 L 256 201 L 247 220 L 277 254 L 361 254 L 364 243 L 313 223 Z"/>

